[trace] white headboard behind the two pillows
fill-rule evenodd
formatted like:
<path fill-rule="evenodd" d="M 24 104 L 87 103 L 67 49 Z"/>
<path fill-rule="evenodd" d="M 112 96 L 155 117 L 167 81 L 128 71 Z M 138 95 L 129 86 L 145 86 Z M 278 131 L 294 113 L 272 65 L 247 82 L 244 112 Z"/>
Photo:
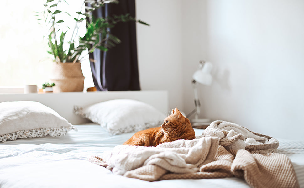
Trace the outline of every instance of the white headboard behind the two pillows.
<path fill-rule="evenodd" d="M 97 91 L 97 92 L 62 92 L 62 93 L 29 93 L 0 94 L 4 101 L 37 101 L 58 112 L 70 123 L 77 125 L 88 122 L 87 119 L 73 114 L 74 105 L 86 106 L 112 99 L 135 99 L 154 106 L 168 114 L 168 91 Z"/>

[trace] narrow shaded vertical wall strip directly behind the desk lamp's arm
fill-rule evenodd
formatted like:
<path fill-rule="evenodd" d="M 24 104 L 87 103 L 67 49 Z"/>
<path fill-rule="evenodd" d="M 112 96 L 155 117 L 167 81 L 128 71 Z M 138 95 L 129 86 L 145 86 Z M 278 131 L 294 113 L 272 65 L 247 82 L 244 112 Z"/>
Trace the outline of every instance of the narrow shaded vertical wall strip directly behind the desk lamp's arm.
<path fill-rule="evenodd" d="M 190 0 L 183 1 L 182 5 L 182 46 L 183 46 L 183 92 L 184 109 L 189 114 L 194 108 L 194 94 L 191 85 L 192 74 L 197 70 L 199 61 L 207 59 L 207 13 L 202 7 L 206 7 L 206 1 Z M 205 89 L 199 86 L 198 92 Z M 201 97 L 201 109 L 204 107 L 204 100 Z M 193 118 L 193 117 L 190 117 Z"/>

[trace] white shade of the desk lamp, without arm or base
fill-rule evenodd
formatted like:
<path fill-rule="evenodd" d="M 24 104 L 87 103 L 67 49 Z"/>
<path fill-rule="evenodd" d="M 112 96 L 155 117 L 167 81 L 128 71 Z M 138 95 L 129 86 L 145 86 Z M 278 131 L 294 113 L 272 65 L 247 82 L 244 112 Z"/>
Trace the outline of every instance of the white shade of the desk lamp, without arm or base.
<path fill-rule="evenodd" d="M 212 76 L 210 74 L 212 70 L 212 64 L 205 62 L 199 70 L 195 71 L 192 78 L 200 84 L 211 85 Z"/>

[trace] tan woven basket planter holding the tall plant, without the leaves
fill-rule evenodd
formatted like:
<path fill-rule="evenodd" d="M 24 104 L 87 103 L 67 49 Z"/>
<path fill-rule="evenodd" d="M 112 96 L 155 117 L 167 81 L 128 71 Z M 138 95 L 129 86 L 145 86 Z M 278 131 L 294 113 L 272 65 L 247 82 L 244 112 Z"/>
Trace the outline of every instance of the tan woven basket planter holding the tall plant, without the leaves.
<path fill-rule="evenodd" d="M 80 63 L 53 63 L 51 81 L 54 92 L 83 91 L 84 76 Z"/>

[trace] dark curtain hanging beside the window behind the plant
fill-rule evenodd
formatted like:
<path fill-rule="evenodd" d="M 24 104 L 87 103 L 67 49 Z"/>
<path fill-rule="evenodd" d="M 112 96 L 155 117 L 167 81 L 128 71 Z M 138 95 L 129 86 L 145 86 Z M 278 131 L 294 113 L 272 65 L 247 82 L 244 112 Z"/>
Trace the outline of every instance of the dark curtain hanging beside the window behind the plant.
<path fill-rule="evenodd" d="M 93 12 L 95 17 L 130 13 L 135 17 L 135 0 L 109 3 Z M 119 22 L 110 32 L 121 40 L 107 52 L 96 49 L 89 54 L 95 87 L 98 91 L 140 90 L 135 22 Z M 92 61 L 95 60 L 95 62 Z"/>

